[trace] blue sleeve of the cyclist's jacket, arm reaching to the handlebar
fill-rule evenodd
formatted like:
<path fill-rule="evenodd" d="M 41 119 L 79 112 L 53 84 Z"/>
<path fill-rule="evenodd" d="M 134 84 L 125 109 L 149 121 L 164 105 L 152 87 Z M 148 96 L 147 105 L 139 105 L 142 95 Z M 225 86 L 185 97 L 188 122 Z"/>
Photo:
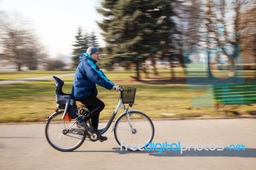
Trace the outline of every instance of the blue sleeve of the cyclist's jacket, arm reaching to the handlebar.
<path fill-rule="evenodd" d="M 115 84 L 104 75 L 104 73 L 99 69 L 95 63 L 90 59 L 85 59 L 83 62 L 83 69 L 86 72 L 86 75 L 90 81 L 102 86 L 106 89 L 111 89 Z"/>

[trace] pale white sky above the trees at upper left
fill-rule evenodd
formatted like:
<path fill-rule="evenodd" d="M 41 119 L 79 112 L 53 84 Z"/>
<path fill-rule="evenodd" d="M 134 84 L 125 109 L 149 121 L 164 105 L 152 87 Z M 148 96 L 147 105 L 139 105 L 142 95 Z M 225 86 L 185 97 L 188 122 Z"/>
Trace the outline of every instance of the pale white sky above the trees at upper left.
<path fill-rule="evenodd" d="M 100 46 L 104 41 L 96 21 L 101 0 L 0 0 L 0 10 L 28 20 L 51 58 L 71 55 L 78 27 L 83 33 L 95 32 Z"/>

